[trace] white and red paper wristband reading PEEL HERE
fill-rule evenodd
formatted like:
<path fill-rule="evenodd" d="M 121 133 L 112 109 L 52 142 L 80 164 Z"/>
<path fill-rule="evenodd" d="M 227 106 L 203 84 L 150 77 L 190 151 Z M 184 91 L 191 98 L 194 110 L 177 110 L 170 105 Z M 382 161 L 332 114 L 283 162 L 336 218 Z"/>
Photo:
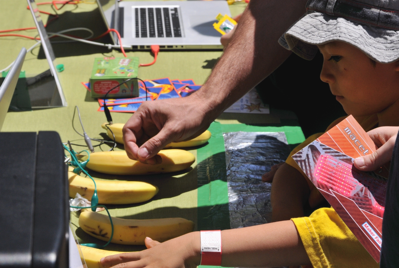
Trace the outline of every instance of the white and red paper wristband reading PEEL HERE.
<path fill-rule="evenodd" d="M 222 263 L 222 242 L 220 230 L 201 231 L 201 264 L 220 266 Z"/>

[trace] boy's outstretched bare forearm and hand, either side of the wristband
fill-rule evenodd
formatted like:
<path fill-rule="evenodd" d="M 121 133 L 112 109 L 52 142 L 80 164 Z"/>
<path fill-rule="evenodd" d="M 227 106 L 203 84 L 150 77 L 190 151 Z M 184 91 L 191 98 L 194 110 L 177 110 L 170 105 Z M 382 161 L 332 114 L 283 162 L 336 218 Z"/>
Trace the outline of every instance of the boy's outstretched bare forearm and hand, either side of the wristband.
<path fill-rule="evenodd" d="M 280 267 L 310 264 L 292 221 L 221 232 L 222 266 Z M 196 268 L 201 261 L 199 232 L 188 233 L 140 252 L 107 256 L 104 267 Z"/>

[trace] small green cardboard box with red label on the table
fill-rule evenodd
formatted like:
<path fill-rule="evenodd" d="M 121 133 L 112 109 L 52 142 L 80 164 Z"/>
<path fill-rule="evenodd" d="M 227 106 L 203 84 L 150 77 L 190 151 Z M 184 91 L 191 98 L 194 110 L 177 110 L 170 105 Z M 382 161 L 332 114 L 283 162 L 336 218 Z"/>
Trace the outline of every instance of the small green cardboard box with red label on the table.
<path fill-rule="evenodd" d="M 95 58 L 90 77 L 91 97 L 103 98 L 111 88 L 137 75 L 138 57 Z M 138 94 L 137 79 L 132 79 L 109 92 L 107 98 L 135 98 Z"/>

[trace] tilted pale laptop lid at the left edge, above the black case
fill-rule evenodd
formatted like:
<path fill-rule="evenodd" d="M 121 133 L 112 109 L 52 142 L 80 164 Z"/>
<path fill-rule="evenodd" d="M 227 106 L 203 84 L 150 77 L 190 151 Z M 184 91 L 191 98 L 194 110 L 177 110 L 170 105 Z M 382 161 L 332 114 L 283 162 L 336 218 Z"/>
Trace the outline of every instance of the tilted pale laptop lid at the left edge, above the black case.
<path fill-rule="evenodd" d="M 23 47 L 18 54 L 17 59 L 12 65 L 2 85 L 0 86 L 0 130 L 6 118 L 8 107 L 12 96 L 14 95 L 15 86 L 17 85 L 20 76 L 22 65 L 24 64 L 26 49 Z"/>

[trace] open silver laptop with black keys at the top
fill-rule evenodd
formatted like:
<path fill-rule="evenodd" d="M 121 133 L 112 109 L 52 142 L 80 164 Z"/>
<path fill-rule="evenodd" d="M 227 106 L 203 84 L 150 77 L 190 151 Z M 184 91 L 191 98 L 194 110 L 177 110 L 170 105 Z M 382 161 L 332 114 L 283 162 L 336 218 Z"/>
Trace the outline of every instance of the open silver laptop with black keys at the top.
<path fill-rule="evenodd" d="M 97 0 L 107 27 L 117 29 L 132 49 L 223 49 L 216 16 L 231 16 L 225 0 L 119 1 Z M 111 34 L 117 45 L 118 38 Z"/>

